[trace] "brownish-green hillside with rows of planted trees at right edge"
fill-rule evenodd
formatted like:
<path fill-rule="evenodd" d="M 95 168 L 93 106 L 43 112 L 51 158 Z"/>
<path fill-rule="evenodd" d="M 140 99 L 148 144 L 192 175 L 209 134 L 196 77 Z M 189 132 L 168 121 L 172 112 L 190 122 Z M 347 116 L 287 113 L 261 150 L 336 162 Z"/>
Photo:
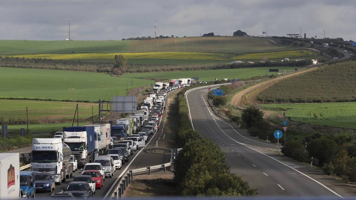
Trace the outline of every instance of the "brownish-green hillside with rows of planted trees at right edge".
<path fill-rule="evenodd" d="M 356 62 L 328 65 L 281 80 L 257 95 L 264 102 L 356 101 Z"/>

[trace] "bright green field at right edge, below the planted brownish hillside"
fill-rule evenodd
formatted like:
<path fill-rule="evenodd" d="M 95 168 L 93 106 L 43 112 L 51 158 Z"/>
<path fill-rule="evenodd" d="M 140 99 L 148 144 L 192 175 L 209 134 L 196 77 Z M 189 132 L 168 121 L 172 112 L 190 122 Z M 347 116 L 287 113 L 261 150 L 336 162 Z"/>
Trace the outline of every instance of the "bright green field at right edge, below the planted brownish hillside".
<path fill-rule="evenodd" d="M 262 109 L 286 110 L 292 121 L 322 126 L 356 128 L 356 102 L 312 104 L 261 104 Z"/>

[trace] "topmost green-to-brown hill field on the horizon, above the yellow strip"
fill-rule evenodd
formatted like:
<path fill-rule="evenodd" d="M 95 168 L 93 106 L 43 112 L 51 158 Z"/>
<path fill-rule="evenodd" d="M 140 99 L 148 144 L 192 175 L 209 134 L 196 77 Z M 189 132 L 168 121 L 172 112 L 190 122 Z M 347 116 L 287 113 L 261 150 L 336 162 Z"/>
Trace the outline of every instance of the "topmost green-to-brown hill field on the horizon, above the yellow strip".
<path fill-rule="evenodd" d="M 257 37 L 184 37 L 146 41 L 2 40 L 0 55 L 43 53 L 206 52 L 258 53 L 296 49 Z"/>

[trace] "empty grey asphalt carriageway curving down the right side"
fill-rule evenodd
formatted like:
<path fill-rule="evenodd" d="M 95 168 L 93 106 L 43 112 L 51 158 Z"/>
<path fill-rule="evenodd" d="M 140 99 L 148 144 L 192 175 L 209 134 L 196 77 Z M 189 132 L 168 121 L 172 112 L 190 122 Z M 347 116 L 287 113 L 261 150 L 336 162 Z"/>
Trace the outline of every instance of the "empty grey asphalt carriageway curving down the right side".
<path fill-rule="evenodd" d="M 241 175 L 261 196 L 332 196 L 341 197 L 325 185 L 275 157 L 277 146 L 258 140 L 241 130 L 236 123 L 216 116 L 207 100 L 207 87 L 185 93 L 189 118 L 195 130 L 225 152 L 231 172 Z M 211 89 L 218 86 L 211 86 Z M 342 198 L 342 197 L 341 197 Z"/>

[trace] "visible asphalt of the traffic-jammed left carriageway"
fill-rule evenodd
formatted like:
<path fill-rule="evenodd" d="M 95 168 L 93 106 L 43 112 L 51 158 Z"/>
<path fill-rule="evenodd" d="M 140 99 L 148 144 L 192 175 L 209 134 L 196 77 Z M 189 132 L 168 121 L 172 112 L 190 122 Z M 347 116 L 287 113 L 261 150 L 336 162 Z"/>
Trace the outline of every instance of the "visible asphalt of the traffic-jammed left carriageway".
<path fill-rule="evenodd" d="M 172 91 L 168 92 L 167 95 L 171 92 Z M 167 103 L 167 99 L 166 99 L 166 103 Z M 158 126 L 161 123 L 163 123 L 162 119 L 165 118 L 165 115 L 166 115 L 166 111 L 162 113 L 162 116 L 160 117 L 158 122 Z M 145 125 L 147 125 L 147 121 L 145 122 Z M 155 146 L 155 141 L 157 140 L 158 135 L 159 134 L 157 131 L 154 133 L 154 135 L 151 135 L 148 141 L 146 142 L 145 148 L 141 148 L 133 152 L 133 155 L 129 157 L 129 162 L 125 162 L 125 164 L 122 166 L 121 169 L 116 169 L 116 172 L 114 173 L 114 176 L 112 178 L 106 177 L 104 180 L 104 187 L 95 190 L 94 198 L 110 198 L 116 182 L 123 175 L 129 172 L 129 170 L 169 162 L 171 160 L 170 159 L 171 154 L 169 155 L 167 154 L 167 156 L 162 156 L 160 154 L 147 153 L 147 150 L 150 148 L 150 146 Z M 73 172 L 72 178 L 66 179 L 66 181 L 62 182 L 61 185 L 56 185 L 56 189 L 53 190 L 52 193 L 61 192 L 62 189 L 66 188 L 66 186 L 70 181 L 73 181 L 73 178 L 76 175 L 80 175 L 81 173 L 82 171 L 80 171 L 80 166 L 79 166 L 78 170 L 76 172 Z M 42 193 L 40 191 L 36 191 L 36 198 L 46 198 L 46 197 L 48 198 L 49 196 L 51 196 L 52 193 Z"/>

